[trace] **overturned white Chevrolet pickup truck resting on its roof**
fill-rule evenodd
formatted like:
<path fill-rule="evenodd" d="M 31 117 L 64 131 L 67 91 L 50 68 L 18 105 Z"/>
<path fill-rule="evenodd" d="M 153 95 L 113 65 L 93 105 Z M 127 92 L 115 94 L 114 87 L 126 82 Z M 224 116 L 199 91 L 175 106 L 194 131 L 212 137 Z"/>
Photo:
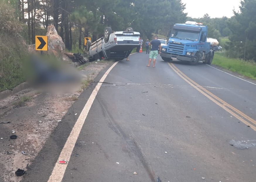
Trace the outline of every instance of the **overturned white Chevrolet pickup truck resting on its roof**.
<path fill-rule="evenodd" d="M 112 31 L 111 27 L 105 28 L 104 37 L 97 41 L 87 43 L 87 50 L 91 59 L 101 58 L 123 60 L 127 58 L 132 50 L 139 46 L 140 33 L 134 32 L 132 28 L 126 31 Z"/>

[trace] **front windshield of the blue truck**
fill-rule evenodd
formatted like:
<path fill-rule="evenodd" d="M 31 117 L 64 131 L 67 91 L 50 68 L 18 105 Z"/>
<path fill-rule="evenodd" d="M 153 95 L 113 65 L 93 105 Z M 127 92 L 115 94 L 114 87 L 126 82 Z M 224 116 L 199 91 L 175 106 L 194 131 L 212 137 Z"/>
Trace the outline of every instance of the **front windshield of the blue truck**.
<path fill-rule="evenodd" d="M 199 35 L 198 31 L 173 29 L 170 37 L 198 41 Z"/>

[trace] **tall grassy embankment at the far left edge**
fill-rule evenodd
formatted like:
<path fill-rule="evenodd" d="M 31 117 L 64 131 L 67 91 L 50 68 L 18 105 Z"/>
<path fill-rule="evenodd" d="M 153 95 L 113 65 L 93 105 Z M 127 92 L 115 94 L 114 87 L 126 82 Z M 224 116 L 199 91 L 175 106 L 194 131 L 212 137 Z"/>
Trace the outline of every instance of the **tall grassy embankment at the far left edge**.
<path fill-rule="evenodd" d="M 11 90 L 24 81 L 21 60 L 28 50 L 19 36 L 23 26 L 15 9 L 7 1 L 0 1 L 0 92 Z"/>

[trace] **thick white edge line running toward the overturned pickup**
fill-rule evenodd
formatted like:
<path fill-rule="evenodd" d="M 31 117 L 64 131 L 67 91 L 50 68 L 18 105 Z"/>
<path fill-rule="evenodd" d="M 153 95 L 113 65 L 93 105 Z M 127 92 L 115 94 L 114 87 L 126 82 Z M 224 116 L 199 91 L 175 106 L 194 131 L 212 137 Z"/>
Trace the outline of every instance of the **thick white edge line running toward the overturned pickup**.
<path fill-rule="evenodd" d="M 107 75 L 110 73 L 110 71 L 112 70 L 112 68 L 114 68 L 114 66 L 118 63 L 119 61 L 115 62 L 108 70 L 107 72 L 103 75 L 103 77 L 100 79 L 100 82 L 104 82 L 105 78 L 107 77 Z M 83 124 L 85 122 L 85 119 L 88 115 L 89 110 L 91 109 L 91 106 L 93 104 L 93 101 L 98 93 L 98 91 L 100 90 L 100 86 L 102 85 L 102 83 L 98 83 L 96 85 L 96 87 L 94 88 L 91 96 L 89 97 L 88 101 L 86 102 L 86 105 L 84 106 L 81 114 L 79 115 L 60 155 L 59 155 L 59 160 L 70 160 L 72 151 L 74 149 L 74 146 L 76 144 L 76 140 L 81 132 L 81 129 L 83 127 Z M 48 182 L 61 182 L 62 178 L 64 176 L 67 164 L 59 164 L 58 161 L 56 162 L 53 170 L 52 170 L 52 174 L 48 180 Z"/>

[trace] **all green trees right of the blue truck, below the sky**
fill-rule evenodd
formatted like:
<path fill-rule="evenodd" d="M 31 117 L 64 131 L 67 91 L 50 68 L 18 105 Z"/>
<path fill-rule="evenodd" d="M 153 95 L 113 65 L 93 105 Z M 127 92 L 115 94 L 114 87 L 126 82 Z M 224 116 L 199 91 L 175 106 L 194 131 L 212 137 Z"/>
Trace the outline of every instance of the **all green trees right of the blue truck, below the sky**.
<path fill-rule="evenodd" d="M 231 18 L 188 18 L 208 25 L 208 37 L 228 37 L 226 53 L 232 58 L 256 61 L 256 0 L 242 0 L 240 10 Z"/>

